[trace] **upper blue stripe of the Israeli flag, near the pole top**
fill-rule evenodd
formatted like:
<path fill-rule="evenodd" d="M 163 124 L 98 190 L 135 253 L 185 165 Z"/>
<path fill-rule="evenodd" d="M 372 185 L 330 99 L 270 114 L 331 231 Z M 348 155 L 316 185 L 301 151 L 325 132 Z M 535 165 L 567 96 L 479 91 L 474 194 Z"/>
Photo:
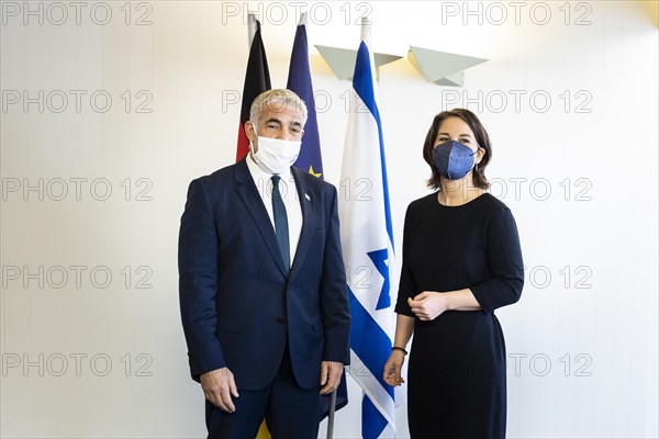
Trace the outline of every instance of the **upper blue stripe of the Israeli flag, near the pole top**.
<path fill-rule="evenodd" d="M 366 106 L 370 110 L 376 123 L 378 124 L 378 137 L 380 138 L 380 161 L 382 165 L 382 188 L 384 190 L 384 219 L 387 222 L 387 234 L 389 235 L 391 248 L 394 249 L 393 225 L 391 223 L 391 207 L 389 204 L 389 183 L 387 182 L 387 162 L 384 160 L 384 142 L 382 139 L 382 122 L 380 121 L 380 112 L 378 111 L 378 104 L 376 103 L 376 92 L 373 90 L 372 78 L 373 75 L 370 69 L 370 55 L 368 52 L 368 46 L 365 42 L 361 42 L 361 44 L 359 44 L 359 50 L 357 52 L 353 87 Z"/>

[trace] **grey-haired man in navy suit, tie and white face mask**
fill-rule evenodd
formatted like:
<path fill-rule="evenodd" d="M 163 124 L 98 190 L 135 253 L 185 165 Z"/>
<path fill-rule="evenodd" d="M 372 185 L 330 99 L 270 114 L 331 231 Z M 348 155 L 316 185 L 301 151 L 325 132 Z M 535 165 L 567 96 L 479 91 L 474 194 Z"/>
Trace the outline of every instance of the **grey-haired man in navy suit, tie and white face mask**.
<path fill-rule="evenodd" d="M 316 438 L 320 394 L 349 362 L 336 189 L 291 167 L 306 108 L 269 90 L 249 155 L 190 183 L 179 235 L 181 318 L 209 438 Z"/>

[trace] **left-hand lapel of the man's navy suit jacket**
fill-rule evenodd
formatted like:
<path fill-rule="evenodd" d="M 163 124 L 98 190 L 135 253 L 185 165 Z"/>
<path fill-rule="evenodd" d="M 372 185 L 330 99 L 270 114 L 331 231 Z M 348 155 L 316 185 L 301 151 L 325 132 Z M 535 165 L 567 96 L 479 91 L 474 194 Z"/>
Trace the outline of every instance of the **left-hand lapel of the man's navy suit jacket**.
<path fill-rule="evenodd" d="M 282 274 L 286 275 L 288 270 L 284 270 L 283 267 L 283 259 L 281 258 L 281 251 L 279 250 L 279 244 L 277 243 L 277 235 L 275 234 L 272 222 L 268 216 L 268 211 L 266 211 L 266 206 L 264 205 L 264 201 L 258 193 L 258 189 L 254 183 L 252 173 L 249 173 L 249 168 L 247 168 L 247 164 L 245 162 L 246 159 L 247 158 L 244 158 L 235 166 L 235 177 L 236 182 L 238 183 L 238 195 L 254 218 L 256 228 L 266 241 L 272 259 L 275 259 L 277 262 L 277 267 Z"/>

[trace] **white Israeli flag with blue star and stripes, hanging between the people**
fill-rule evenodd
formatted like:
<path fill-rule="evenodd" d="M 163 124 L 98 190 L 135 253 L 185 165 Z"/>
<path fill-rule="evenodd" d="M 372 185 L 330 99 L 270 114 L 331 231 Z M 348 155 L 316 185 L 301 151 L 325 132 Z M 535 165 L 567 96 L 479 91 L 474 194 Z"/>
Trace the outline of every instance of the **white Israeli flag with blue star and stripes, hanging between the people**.
<path fill-rule="evenodd" d="M 377 104 L 370 26 L 362 20 L 338 202 L 350 299 L 350 376 L 364 390 L 361 436 L 395 435 L 394 390 L 382 380 L 391 353 L 395 279 L 382 124 Z"/>

